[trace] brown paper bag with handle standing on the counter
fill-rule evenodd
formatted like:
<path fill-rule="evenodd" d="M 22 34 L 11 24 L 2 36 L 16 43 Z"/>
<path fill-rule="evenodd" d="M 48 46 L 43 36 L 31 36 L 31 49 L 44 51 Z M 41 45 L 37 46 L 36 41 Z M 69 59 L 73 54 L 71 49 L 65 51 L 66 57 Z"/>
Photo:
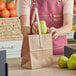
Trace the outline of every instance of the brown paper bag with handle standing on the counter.
<path fill-rule="evenodd" d="M 39 23 L 37 8 L 35 8 L 37 21 Z M 33 16 L 33 21 L 35 17 Z M 33 22 L 32 21 L 32 22 Z M 39 24 L 40 27 L 40 24 Z M 40 31 L 40 30 L 39 30 Z M 52 64 L 53 49 L 51 34 L 28 35 L 23 39 L 21 50 L 23 68 L 37 69 Z"/>

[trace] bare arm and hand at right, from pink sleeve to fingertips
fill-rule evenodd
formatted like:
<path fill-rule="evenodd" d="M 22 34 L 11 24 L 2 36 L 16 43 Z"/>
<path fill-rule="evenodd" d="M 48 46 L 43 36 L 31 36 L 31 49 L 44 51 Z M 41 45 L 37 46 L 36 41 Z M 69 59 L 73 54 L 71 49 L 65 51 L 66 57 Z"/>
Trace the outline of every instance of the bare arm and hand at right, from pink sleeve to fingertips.
<path fill-rule="evenodd" d="M 58 36 L 64 36 L 71 32 L 72 30 L 73 15 L 64 14 L 63 26 L 61 28 L 51 28 L 53 34 L 53 39 L 56 39 Z"/>

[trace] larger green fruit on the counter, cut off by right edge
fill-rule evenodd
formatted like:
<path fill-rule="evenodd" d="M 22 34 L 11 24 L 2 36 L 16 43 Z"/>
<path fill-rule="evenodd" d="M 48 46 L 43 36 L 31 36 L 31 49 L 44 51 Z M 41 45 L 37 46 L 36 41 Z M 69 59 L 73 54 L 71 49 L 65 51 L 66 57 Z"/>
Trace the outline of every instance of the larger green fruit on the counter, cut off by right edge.
<path fill-rule="evenodd" d="M 67 62 L 68 69 L 76 70 L 76 54 L 72 54 Z"/>

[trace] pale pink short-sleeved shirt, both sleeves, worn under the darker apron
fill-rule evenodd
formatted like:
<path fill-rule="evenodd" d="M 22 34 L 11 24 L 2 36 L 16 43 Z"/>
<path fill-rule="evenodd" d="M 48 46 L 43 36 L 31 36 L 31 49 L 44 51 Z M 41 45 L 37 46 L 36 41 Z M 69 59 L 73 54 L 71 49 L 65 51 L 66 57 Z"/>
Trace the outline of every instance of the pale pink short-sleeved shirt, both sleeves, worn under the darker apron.
<path fill-rule="evenodd" d="M 73 14 L 74 0 L 63 1 L 63 14 Z M 20 0 L 20 16 L 30 15 L 31 0 Z"/>

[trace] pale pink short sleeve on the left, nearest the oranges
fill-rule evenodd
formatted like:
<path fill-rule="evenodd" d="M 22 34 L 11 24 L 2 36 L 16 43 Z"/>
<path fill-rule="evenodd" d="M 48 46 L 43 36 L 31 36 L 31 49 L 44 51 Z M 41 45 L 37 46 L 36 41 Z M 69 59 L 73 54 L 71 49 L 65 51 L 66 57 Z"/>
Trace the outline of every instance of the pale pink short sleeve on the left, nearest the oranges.
<path fill-rule="evenodd" d="M 31 0 L 19 0 L 19 13 L 21 15 L 30 15 Z"/>

